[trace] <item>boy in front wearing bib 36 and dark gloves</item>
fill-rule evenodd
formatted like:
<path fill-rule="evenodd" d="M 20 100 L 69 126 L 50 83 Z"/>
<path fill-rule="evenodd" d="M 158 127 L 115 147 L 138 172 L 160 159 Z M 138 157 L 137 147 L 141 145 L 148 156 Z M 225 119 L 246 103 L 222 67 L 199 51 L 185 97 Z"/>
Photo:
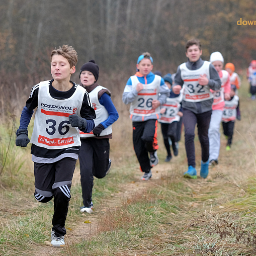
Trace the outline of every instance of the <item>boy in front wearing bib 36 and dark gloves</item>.
<path fill-rule="evenodd" d="M 28 125 L 37 108 L 31 136 L 34 162 L 35 198 L 47 203 L 54 197 L 51 245 L 65 246 L 65 220 L 70 201 L 71 181 L 81 145 L 79 129 L 89 133 L 96 118 L 85 89 L 70 81 L 75 72 L 77 53 L 63 45 L 51 53 L 53 79 L 42 81 L 31 90 L 23 108 L 16 145 L 29 143 Z"/>

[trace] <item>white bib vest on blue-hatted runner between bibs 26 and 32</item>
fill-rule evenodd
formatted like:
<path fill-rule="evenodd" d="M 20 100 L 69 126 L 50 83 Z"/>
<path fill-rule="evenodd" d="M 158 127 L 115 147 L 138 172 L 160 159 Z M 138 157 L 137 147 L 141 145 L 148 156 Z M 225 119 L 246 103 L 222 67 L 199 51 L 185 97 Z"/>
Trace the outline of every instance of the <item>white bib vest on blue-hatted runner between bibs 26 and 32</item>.
<path fill-rule="evenodd" d="M 184 90 L 181 90 L 181 93 L 178 97 L 176 98 L 167 98 L 166 103 L 162 105 L 162 108 L 165 108 L 166 111 L 161 114 L 161 117 L 159 119 L 160 123 L 167 123 L 171 124 L 174 121 L 179 122 L 181 117 L 178 116 L 178 112 L 181 109 L 181 102 L 183 99 L 183 92 Z"/>

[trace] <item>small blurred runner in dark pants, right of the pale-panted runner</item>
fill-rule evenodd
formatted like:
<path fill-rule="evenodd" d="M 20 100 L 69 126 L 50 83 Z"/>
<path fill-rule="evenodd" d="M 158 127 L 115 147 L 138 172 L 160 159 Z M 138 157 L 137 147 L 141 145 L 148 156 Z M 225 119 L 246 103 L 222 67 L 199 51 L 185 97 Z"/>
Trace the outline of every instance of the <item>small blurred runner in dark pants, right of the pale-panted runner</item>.
<path fill-rule="evenodd" d="M 230 150 L 232 144 L 235 119 L 241 120 L 241 114 L 239 109 L 239 97 L 235 94 L 235 92 L 236 87 L 234 84 L 231 84 L 230 100 L 225 101 L 225 107 L 222 116 L 223 132 L 227 139 L 227 151 Z"/>

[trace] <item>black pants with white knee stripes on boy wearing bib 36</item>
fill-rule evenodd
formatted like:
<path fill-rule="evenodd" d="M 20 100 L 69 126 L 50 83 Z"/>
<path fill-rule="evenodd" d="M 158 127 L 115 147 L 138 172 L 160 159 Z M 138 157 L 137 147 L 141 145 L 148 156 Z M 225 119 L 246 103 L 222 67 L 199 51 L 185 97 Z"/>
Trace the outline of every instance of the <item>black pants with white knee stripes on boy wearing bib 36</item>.
<path fill-rule="evenodd" d="M 76 159 L 65 157 L 54 163 L 34 162 L 35 198 L 41 203 L 53 197 L 53 230 L 57 236 L 65 235 L 65 221 L 70 201 L 70 188 Z"/>

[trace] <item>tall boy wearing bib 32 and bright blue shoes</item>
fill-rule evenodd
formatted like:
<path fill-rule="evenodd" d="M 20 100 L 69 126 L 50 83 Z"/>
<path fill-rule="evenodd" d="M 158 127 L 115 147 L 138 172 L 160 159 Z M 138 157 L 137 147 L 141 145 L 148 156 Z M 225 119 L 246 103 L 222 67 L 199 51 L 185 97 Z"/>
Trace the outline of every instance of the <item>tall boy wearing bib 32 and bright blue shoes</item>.
<path fill-rule="evenodd" d="M 173 91 L 179 94 L 184 87 L 182 101 L 183 123 L 185 128 L 185 147 L 189 168 L 184 177 L 196 179 L 195 156 L 195 127 L 198 127 L 198 137 L 202 149 L 200 176 L 208 176 L 209 165 L 209 139 L 208 129 L 212 114 L 213 91 L 221 88 L 218 72 L 209 61 L 201 59 L 201 43 L 197 39 L 191 39 L 186 44 L 186 56 L 188 61 L 181 64 L 175 75 Z"/>

